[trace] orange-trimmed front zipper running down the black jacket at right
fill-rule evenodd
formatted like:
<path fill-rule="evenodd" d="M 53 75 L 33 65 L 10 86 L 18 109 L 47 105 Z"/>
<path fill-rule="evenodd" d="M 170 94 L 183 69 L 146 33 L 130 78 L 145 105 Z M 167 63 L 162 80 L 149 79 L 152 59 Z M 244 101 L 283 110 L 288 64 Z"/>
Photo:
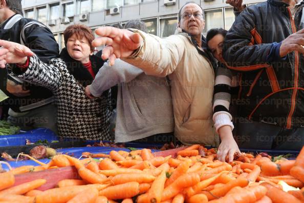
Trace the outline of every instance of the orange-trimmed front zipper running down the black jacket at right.
<path fill-rule="evenodd" d="M 291 19 L 291 29 L 292 33 L 296 32 L 296 26 L 294 23 L 294 15 L 291 15 L 290 9 L 287 8 L 290 19 Z M 291 96 L 291 107 L 286 121 L 286 128 L 291 129 L 292 123 L 292 116 L 294 114 L 295 105 L 296 105 L 296 95 L 297 95 L 297 88 L 298 88 L 298 80 L 299 80 L 299 53 L 298 51 L 294 52 L 294 89 L 292 90 Z"/>

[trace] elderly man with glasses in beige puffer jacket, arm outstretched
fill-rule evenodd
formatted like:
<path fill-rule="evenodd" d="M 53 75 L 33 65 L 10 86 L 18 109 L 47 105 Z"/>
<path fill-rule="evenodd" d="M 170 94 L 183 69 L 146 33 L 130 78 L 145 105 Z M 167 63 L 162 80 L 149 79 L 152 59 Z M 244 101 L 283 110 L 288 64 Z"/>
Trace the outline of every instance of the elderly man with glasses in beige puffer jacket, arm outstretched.
<path fill-rule="evenodd" d="M 207 51 L 204 11 L 187 3 L 179 11 L 175 35 L 159 38 L 139 30 L 98 28 L 94 46 L 108 45 L 102 58 L 115 58 L 141 68 L 146 74 L 169 76 L 175 118 L 175 136 L 183 144 L 217 146 L 212 122 L 213 57 Z"/>

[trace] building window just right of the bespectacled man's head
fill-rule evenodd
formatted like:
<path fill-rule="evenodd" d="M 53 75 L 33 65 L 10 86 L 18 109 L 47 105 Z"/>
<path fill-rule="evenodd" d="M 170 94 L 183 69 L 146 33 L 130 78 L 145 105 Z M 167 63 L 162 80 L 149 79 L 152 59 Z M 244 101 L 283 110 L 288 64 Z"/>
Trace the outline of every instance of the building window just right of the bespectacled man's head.
<path fill-rule="evenodd" d="M 223 28 L 223 19 L 222 9 L 205 11 L 205 29 L 203 34 L 206 35 L 207 31 L 212 28 Z"/>

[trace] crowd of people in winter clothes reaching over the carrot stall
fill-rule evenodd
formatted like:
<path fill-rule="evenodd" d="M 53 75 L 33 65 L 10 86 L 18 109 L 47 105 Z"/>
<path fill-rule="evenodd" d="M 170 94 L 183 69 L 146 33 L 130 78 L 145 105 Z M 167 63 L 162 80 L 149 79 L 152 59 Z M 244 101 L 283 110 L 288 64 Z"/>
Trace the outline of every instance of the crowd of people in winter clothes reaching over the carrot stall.
<path fill-rule="evenodd" d="M 20 0 L 0 3 L 0 88 L 10 96 L 2 108 L 14 125 L 71 138 L 199 143 L 218 147 L 223 161 L 239 148 L 304 145 L 302 1 L 227 0 L 234 24 L 206 37 L 204 10 L 192 2 L 166 38 L 139 19 L 98 28 L 95 39 L 75 24 L 60 54 L 49 28 L 22 16 Z"/>

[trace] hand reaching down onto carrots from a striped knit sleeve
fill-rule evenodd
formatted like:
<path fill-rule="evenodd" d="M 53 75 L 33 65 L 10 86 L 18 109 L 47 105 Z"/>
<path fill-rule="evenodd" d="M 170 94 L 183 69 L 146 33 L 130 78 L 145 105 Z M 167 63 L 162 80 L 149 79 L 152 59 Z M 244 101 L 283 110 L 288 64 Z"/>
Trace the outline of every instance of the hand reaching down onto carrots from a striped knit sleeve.
<path fill-rule="evenodd" d="M 233 161 L 234 154 L 237 153 L 241 156 L 241 151 L 232 136 L 230 126 L 222 126 L 219 129 L 219 134 L 221 136 L 221 144 L 218 148 L 218 159 L 220 161 L 226 161 L 226 156 L 228 155 L 228 161 Z"/>

